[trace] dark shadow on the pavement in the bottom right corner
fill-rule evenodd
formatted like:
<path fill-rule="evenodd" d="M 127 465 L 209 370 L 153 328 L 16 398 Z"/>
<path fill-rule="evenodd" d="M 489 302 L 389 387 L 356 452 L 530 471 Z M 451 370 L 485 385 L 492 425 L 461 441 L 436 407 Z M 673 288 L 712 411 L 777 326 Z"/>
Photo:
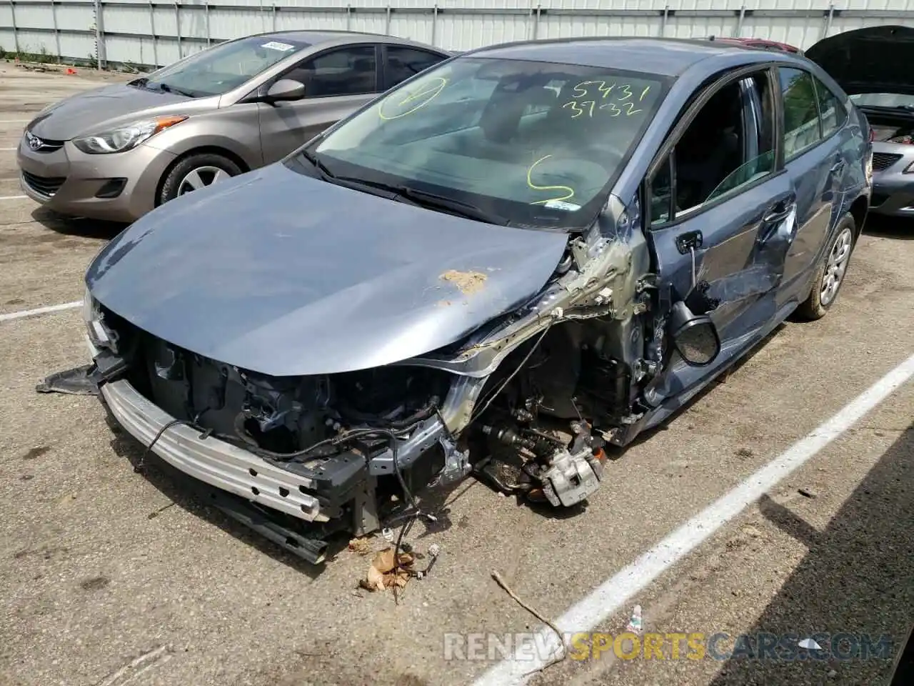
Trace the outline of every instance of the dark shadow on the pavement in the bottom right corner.
<path fill-rule="evenodd" d="M 723 662 L 712 686 L 887 684 L 914 621 L 914 423 L 859 429 L 880 435 L 899 430 L 824 530 L 761 498 L 762 516 L 809 552 L 745 642 L 721 638 L 717 655 L 740 649 Z M 800 648 L 807 638 L 823 649 Z M 767 655 L 760 650 L 775 641 L 780 643 Z"/>

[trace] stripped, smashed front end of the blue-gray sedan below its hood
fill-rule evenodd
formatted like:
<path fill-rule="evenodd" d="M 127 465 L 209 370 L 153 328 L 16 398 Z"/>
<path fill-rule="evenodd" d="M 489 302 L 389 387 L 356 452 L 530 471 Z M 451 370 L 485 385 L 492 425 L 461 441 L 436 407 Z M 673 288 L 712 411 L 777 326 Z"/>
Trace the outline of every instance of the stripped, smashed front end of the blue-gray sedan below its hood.
<path fill-rule="evenodd" d="M 665 416 L 671 355 L 700 366 L 719 351 L 702 284 L 688 305 L 657 286 L 632 230 L 639 208 L 611 198 L 526 304 L 444 348 L 361 370 L 241 369 L 157 338 L 87 292 L 93 378 L 147 453 L 256 509 L 269 520 L 261 532 L 312 563 L 335 533 L 433 520 L 423 493 L 471 475 L 570 508 L 599 488 L 608 445 Z M 162 439 L 177 424 L 193 431 Z"/>

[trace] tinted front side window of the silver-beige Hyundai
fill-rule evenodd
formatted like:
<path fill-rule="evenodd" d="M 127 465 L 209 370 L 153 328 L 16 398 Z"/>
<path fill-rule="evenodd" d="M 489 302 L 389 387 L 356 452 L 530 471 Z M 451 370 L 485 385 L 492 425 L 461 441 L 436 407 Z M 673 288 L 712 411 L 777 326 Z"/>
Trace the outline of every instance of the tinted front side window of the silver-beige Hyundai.
<path fill-rule="evenodd" d="M 307 98 L 362 95 L 377 91 L 374 46 L 353 46 L 325 52 L 291 70 L 288 78 L 304 84 Z"/>

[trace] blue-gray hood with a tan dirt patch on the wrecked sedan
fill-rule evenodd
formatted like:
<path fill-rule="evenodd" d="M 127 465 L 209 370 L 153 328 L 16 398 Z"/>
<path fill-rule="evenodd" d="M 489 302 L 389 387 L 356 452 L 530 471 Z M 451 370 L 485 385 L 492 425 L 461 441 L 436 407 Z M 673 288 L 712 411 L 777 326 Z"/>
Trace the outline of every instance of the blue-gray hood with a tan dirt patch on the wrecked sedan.
<path fill-rule="evenodd" d="M 459 340 L 536 295 L 567 240 L 277 163 L 134 222 L 86 283 L 102 305 L 180 348 L 273 376 L 329 374 Z"/>

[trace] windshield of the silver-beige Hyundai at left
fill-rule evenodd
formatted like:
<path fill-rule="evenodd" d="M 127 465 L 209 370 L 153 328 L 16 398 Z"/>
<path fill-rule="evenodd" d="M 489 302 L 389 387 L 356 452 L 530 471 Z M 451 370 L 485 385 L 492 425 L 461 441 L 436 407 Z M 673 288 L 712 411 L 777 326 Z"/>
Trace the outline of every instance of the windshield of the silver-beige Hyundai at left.
<path fill-rule="evenodd" d="M 132 81 L 132 84 L 191 98 L 221 95 L 307 47 L 307 43 L 285 38 L 241 38 L 201 50 L 196 55 L 154 71 L 147 78 Z"/>

